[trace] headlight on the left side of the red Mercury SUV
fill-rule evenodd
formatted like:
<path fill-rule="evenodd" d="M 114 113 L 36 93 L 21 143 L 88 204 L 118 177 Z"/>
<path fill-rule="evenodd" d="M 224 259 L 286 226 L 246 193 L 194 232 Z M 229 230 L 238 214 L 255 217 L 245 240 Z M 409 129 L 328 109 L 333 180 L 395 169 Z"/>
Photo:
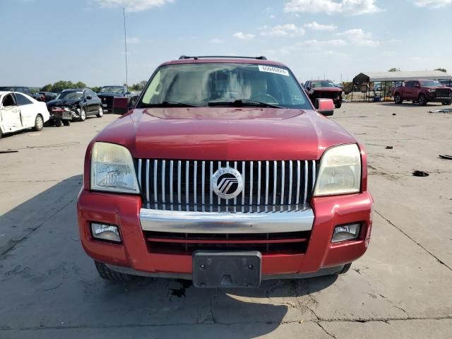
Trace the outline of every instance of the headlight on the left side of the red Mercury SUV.
<path fill-rule="evenodd" d="M 140 193 L 129 150 L 114 143 L 95 143 L 91 153 L 91 189 Z"/>

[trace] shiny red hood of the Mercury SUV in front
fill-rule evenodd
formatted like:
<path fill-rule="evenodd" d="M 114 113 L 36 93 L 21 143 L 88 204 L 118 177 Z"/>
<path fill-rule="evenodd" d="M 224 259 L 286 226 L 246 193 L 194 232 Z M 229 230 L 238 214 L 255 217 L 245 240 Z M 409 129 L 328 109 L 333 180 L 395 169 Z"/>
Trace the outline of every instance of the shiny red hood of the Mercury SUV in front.
<path fill-rule="evenodd" d="M 135 109 L 95 138 L 133 157 L 194 160 L 317 160 L 356 143 L 323 115 L 300 109 L 201 107 Z"/>

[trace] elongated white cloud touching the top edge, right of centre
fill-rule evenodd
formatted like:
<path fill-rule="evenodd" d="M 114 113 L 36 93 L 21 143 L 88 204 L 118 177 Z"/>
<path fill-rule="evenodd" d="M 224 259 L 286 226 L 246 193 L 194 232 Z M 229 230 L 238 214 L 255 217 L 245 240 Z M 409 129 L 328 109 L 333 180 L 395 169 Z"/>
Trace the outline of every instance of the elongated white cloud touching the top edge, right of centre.
<path fill-rule="evenodd" d="M 285 3 L 284 11 L 359 16 L 376 13 L 381 9 L 376 6 L 376 0 L 290 0 Z"/>

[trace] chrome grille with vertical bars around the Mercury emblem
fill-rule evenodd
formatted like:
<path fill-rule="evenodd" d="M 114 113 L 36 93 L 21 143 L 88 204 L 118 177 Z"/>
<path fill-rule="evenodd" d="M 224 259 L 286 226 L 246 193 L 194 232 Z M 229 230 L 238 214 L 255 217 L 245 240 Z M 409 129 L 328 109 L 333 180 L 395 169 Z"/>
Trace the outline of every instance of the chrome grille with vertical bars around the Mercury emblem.
<path fill-rule="evenodd" d="M 220 167 L 234 167 L 244 189 L 225 200 L 213 192 Z M 316 180 L 315 160 L 218 161 L 138 159 L 138 182 L 151 208 L 169 206 L 296 206 L 309 203 Z M 153 206 L 154 205 L 154 206 Z"/>

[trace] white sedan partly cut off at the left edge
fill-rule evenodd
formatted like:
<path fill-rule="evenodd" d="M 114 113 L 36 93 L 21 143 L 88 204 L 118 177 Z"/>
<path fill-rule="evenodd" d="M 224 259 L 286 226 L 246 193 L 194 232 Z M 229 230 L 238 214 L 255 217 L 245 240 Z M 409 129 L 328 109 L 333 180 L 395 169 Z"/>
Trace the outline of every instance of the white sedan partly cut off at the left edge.
<path fill-rule="evenodd" d="M 0 92 L 0 138 L 21 129 L 41 131 L 49 115 L 45 102 L 23 93 Z"/>

